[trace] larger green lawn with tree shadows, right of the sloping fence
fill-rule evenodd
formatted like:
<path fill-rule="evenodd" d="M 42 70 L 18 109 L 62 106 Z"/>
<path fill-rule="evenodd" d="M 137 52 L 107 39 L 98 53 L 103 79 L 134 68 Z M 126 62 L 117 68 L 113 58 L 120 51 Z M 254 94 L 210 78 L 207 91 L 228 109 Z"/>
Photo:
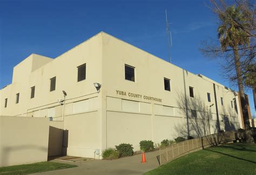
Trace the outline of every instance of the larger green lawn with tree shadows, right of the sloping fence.
<path fill-rule="evenodd" d="M 256 174 L 256 144 L 214 146 L 174 159 L 145 174 Z"/>

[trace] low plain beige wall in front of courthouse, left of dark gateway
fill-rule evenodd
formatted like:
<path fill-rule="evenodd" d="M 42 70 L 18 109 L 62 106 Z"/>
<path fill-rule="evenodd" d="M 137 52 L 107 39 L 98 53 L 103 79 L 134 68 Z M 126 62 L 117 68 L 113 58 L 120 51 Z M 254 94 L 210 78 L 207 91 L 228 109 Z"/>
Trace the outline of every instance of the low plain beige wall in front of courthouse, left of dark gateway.
<path fill-rule="evenodd" d="M 0 116 L 0 166 L 46 161 L 48 136 L 46 118 Z"/>

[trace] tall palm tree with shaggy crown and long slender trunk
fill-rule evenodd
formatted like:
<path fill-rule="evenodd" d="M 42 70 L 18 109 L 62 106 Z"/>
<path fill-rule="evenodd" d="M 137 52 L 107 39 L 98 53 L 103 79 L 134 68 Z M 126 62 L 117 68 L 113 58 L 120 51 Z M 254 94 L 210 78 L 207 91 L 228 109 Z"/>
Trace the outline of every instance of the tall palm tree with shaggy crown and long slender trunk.
<path fill-rule="evenodd" d="M 241 10 L 234 5 L 228 6 L 224 13 L 219 13 L 220 26 L 218 27 L 218 37 L 220 45 L 223 51 L 227 48 L 233 50 L 235 71 L 237 73 L 238 89 L 240 95 L 240 102 L 242 108 L 242 116 L 244 117 L 245 130 L 247 135 L 247 141 L 252 141 L 250 132 L 250 121 L 247 109 L 247 102 L 245 100 L 244 86 L 242 85 L 242 70 L 239 55 L 239 46 L 250 44 L 250 38 L 244 30 L 241 29 L 241 25 L 246 25 L 246 19 L 241 13 Z M 241 25 L 238 25 L 238 23 Z"/>

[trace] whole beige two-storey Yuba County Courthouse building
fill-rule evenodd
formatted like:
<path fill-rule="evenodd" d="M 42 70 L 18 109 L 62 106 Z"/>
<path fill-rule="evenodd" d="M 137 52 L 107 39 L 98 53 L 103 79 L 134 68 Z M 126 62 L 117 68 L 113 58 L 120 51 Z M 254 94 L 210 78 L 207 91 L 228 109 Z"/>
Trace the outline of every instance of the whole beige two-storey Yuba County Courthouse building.
<path fill-rule="evenodd" d="M 55 59 L 31 54 L 0 97 L 0 116 L 46 117 L 66 131 L 70 156 L 101 158 L 120 143 L 135 151 L 143 139 L 158 144 L 242 123 L 237 92 L 104 32 Z"/>

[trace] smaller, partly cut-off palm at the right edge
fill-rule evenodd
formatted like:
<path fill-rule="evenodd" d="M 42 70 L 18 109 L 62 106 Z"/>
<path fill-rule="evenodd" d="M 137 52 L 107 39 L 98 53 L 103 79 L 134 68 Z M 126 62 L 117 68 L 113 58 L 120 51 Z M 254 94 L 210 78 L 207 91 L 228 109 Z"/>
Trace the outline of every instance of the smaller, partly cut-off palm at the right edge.
<path fill-rule="evenodd" d="M 245 85 L 252 88 L 254 100 L 254 115 L 256 114 L 256 65 L 248 65 L 246 67 L 247 73 L 244 76 Z M 254 116 L 255 117 L 255 116 Z"/>

